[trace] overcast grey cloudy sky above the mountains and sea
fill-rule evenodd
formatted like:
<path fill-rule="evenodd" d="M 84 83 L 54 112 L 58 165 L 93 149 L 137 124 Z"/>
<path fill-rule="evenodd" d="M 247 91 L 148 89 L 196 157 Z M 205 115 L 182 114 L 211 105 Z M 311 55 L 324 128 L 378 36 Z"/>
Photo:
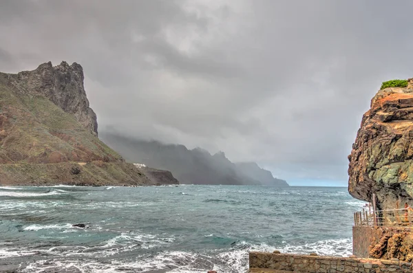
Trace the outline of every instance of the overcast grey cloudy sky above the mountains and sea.
<path fill-rule="evenodd" d="M 80 63 L 99 131 L 343 185 L 370 99 L 413 77 L 413 1 L 0 2 L 0 71 Z"/>

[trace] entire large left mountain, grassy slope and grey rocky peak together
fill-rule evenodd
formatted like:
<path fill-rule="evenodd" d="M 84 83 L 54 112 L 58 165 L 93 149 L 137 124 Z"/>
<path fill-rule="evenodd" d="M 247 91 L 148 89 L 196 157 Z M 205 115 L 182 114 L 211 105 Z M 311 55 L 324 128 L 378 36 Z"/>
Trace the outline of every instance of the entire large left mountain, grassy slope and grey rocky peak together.
<path fill-rule="evenodd" d="M 157 184 L 96 129 L 81 65 L 0 73 L 0 184 Z"/>

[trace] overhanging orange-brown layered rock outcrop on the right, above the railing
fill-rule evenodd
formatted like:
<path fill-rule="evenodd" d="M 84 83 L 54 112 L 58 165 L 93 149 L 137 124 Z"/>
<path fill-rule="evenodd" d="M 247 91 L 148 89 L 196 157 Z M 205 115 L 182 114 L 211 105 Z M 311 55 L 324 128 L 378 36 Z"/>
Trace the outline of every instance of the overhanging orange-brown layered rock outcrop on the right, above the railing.
<path fill-rule="evenodd" d="M 372 98 L 352 145 L 348 191 L 379 209 L 413 205 L 413 86 L 389 87 Z"/>

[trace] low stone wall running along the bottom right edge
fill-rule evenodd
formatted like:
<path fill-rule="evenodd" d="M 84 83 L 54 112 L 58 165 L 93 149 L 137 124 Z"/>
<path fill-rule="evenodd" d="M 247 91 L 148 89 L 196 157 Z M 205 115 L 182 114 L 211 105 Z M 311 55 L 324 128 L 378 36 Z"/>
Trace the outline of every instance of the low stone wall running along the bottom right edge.
<path fill-rule="evenodd" d="M 412 273 L 412 263 L 379 259 L 250 252 L 250 268 L 296 273 Z"/>

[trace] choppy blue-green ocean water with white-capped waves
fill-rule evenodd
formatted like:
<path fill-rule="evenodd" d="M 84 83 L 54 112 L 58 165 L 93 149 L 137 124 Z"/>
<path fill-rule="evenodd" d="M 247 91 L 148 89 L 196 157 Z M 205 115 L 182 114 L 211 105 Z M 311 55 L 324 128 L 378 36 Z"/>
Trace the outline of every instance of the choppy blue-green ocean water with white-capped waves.
<path fill-rule="evenodd" d="M 363 204 L 346 188 L 0 187 L 0 271 L 246 272 L 252 250 L 348 256 Z"/>

